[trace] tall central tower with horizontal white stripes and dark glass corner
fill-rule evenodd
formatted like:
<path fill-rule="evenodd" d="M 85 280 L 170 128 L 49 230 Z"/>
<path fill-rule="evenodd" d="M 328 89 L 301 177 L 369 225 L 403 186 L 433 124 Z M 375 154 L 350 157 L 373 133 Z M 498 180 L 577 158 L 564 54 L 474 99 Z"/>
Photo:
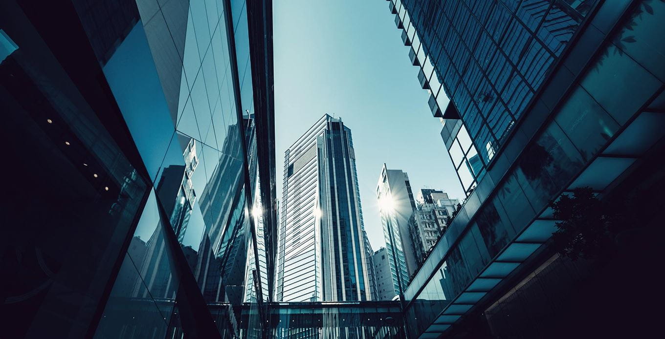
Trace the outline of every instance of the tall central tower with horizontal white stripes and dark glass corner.
<path fill-rule="evenodd" d="M 277 299 L 369 300 L 356 159 L 340 118 L 325 114 L 286 150 L 281 211 Z"/>

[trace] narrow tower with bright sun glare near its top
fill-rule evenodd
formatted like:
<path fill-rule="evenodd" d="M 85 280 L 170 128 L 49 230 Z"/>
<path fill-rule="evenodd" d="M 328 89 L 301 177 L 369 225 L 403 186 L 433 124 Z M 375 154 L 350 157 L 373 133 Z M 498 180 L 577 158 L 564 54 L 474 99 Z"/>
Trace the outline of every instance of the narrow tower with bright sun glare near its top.
<path fill-rule="evenodd" d="M 383 164 L 376 184 L 383 236 L 395 290 L 404 291 L 409 275 L 418 268 L 416 251 L 409 234 L 409 218 L 416 208 L 406 172 Z"/>

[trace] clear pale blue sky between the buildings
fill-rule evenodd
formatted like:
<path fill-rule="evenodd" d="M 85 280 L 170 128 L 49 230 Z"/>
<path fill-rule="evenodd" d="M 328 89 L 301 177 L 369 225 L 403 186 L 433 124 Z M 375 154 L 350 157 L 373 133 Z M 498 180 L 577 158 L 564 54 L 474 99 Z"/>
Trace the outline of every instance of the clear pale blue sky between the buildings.
<path fill-rule="evenodd" d="M 278 199 L 284 151 L 325 113 L 352 131 L 375 251 L 384 245 L 375 196 L 384 162 L 406 171 L 414 190 L 464 197 L 387 1 L 275 0 L 273 15 Z"/>

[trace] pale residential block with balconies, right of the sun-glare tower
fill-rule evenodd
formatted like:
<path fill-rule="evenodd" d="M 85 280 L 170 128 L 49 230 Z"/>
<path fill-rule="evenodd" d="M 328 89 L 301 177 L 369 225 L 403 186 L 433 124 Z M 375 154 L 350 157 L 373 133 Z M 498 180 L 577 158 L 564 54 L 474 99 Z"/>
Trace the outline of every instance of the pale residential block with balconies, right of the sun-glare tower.
<path fill-rule="evenodd" d="M 423 188 L 418 192 L 418 203 L 409 219 L 409 232 L 416 251 L 418 265 L 448 227 L 448 217 L 454 215 L 458 199 L 438 189 Z"/>

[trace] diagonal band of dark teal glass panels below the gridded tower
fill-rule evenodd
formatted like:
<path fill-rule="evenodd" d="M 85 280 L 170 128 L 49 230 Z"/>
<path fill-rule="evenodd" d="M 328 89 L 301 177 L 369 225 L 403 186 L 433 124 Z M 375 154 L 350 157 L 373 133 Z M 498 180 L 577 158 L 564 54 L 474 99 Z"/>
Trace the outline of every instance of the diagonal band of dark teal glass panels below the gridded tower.
<path fill-rule="evenodd" d="M 415 287 L 406 293 L 410 302 L 406 316 L 418 318 L 418 322 L 409 327 L 412 335 L 426 330 L 438 317 L 450 318 L 444 319 L 448 324 L 454 322 L 459 315 L 446 316 L 448 310 L 450 314 L 466 312 L 465 305 L 451 302 L 469 290 L 469 283 L 483 270 L 485 273 L 481 277 L 490 278 L 492 275 L 505 277 L 513 271 L 519 264 L 487 265 L 531 223 L 537 213 L 547 207 L 549 201 L 556 199 L 559 192 L 599 156 L 608 141 L 627 126 L 626 122 L 639 114 L 648 116 L 640 110 L 658 95 L 665 80 L 663 63 L 645 57 L 647 54 L 658 55 L 656 51 L 662 45 L 652 45 L 651 42 L 658 39 L 654 32 L 663 29 L 665 5 L 653 4 L 653 14 L 642 14 L 640 6 L 628 14 L 630 21 L 618 27 L 612 39 L 601 47 L 583 76 L 573 83 L 569 96 L 563 100 L 553 120 L 527 146 L 523 156 L 517 159 L 517 165 L 497 185 L 468 227 L 459 236 L 444 235 L 444 238 L 448 235 L 460 240 L 450 246 L 445 255 L 438 254 L 442 260 L 431 268 L 435 272 L 433 277 L 426 281 L 414 279 L 412 284 L 422 288 Z M 629 34 L 628 31 L 635 42 L 618 43 Z M 608 83 L 617 86 L 607 86 Z M 654 105 L 656 102 L 651 106 Z M 650 133 L 647 128 L 642 130 Z M 632 164 L 634 160 L 627 161 Z M 623 171 L 628 165 L 613 166 L 617 166 L 613 170 Z M 591 175 L 601 177 L 608 173 L 593 166 L 588 170 L 593 171 Z M 442 241 L 452 243 L 453 240 Z M 441 249 L 443 247 L 438 246 L 435 252 Z M 500 279 L 483 281 L 491 289 Z M 440 315 L 449 304 L 451 307 Z"/>

